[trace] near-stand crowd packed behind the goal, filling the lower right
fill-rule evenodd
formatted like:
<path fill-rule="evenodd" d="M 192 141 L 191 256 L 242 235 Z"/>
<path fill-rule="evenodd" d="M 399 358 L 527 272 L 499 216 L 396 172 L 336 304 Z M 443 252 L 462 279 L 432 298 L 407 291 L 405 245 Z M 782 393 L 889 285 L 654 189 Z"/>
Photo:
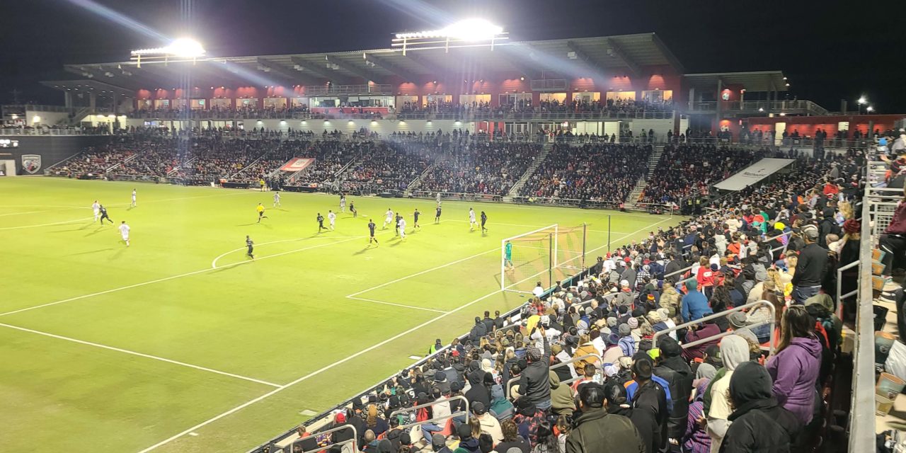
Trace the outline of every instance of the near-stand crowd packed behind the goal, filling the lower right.
<path fill-rule="evenodd" d="M 858 188 L 863 159 L 805 159 L 782 186 L 539 283 L 519 313 L 476 317 L 326 428 L 353 426 L 369 453 L 810 451 L 841 341 L 834 270 L 860 242 L 858 190 L 828 188 Z M 298 434 L 293 451 L 352 439 Z"/>

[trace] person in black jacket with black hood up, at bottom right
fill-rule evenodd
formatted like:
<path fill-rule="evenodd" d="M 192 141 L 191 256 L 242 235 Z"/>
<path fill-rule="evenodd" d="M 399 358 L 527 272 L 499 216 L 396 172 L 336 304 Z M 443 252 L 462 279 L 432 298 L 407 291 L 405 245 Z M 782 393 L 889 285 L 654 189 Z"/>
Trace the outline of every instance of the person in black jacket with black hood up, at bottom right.
<path fill-rule="evenodd" d="M 720 446 L 720 453 L 748 451 L 792 451 L 801 423 L 774 399 L 771 377 L 761 365 L 749 361 L 739 365 L 729 384 L 730 399 L 736 408 Z"/>

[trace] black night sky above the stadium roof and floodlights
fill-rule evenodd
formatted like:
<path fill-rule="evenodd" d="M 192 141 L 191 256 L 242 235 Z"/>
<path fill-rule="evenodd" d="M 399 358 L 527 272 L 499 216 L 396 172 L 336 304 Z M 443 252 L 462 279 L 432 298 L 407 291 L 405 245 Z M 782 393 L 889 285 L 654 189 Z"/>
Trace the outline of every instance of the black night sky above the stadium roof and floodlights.
<path fill-rule="evenodd" d="M 63 102 L 37 82 L 64 63 L 125 61 L 194 36 L 211 56 L 386 48 L 394 32 L 481 16 L 512 40 L 654 32 L 686 72 L 781 70 L 789 97 L 830 111 L 862 94 L 880 113 L 906 112 L 906 24 L 895 3 L 603 0 L 97 0 L 147 27 L 118 24 L 90 0 L 5 0 L 0 8 L 0 102 Z M 871 10 L 863 8 L 870 7 Z M 880 14 L 887 12 L 887 14 Z M 153 32 L 148 32 L 151 30 Z M 70 75 L 72 77 L 72 75 Z"/>

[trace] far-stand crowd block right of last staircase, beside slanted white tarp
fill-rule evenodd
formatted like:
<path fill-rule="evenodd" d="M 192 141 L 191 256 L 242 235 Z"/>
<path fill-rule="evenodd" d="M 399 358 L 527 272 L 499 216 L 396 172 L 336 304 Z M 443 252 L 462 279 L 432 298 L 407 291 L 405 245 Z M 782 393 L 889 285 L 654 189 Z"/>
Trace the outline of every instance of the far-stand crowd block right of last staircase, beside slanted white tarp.
<path fill-rule="evenodd" d="M 679 203 L 680 198 L 708 195 L 711 185 L 765 157 L 768 152 L 767 148 L 667 145 L 640 200 Z"/>

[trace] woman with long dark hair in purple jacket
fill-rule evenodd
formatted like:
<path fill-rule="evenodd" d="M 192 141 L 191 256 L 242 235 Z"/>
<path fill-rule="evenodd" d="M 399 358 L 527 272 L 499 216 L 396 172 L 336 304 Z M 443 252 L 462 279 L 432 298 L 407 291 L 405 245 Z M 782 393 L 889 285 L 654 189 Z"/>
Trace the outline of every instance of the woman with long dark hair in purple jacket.
<path fill-rule="evenodd" d="M 777 353 L 766 366 L 774 380 L 777 402 L 793 412 L 804 426 L 812 421 L 821 352 L 821 342 L 814 334 L 814 320 L 805 306 L 787 308 L 781 319 Z"/>

